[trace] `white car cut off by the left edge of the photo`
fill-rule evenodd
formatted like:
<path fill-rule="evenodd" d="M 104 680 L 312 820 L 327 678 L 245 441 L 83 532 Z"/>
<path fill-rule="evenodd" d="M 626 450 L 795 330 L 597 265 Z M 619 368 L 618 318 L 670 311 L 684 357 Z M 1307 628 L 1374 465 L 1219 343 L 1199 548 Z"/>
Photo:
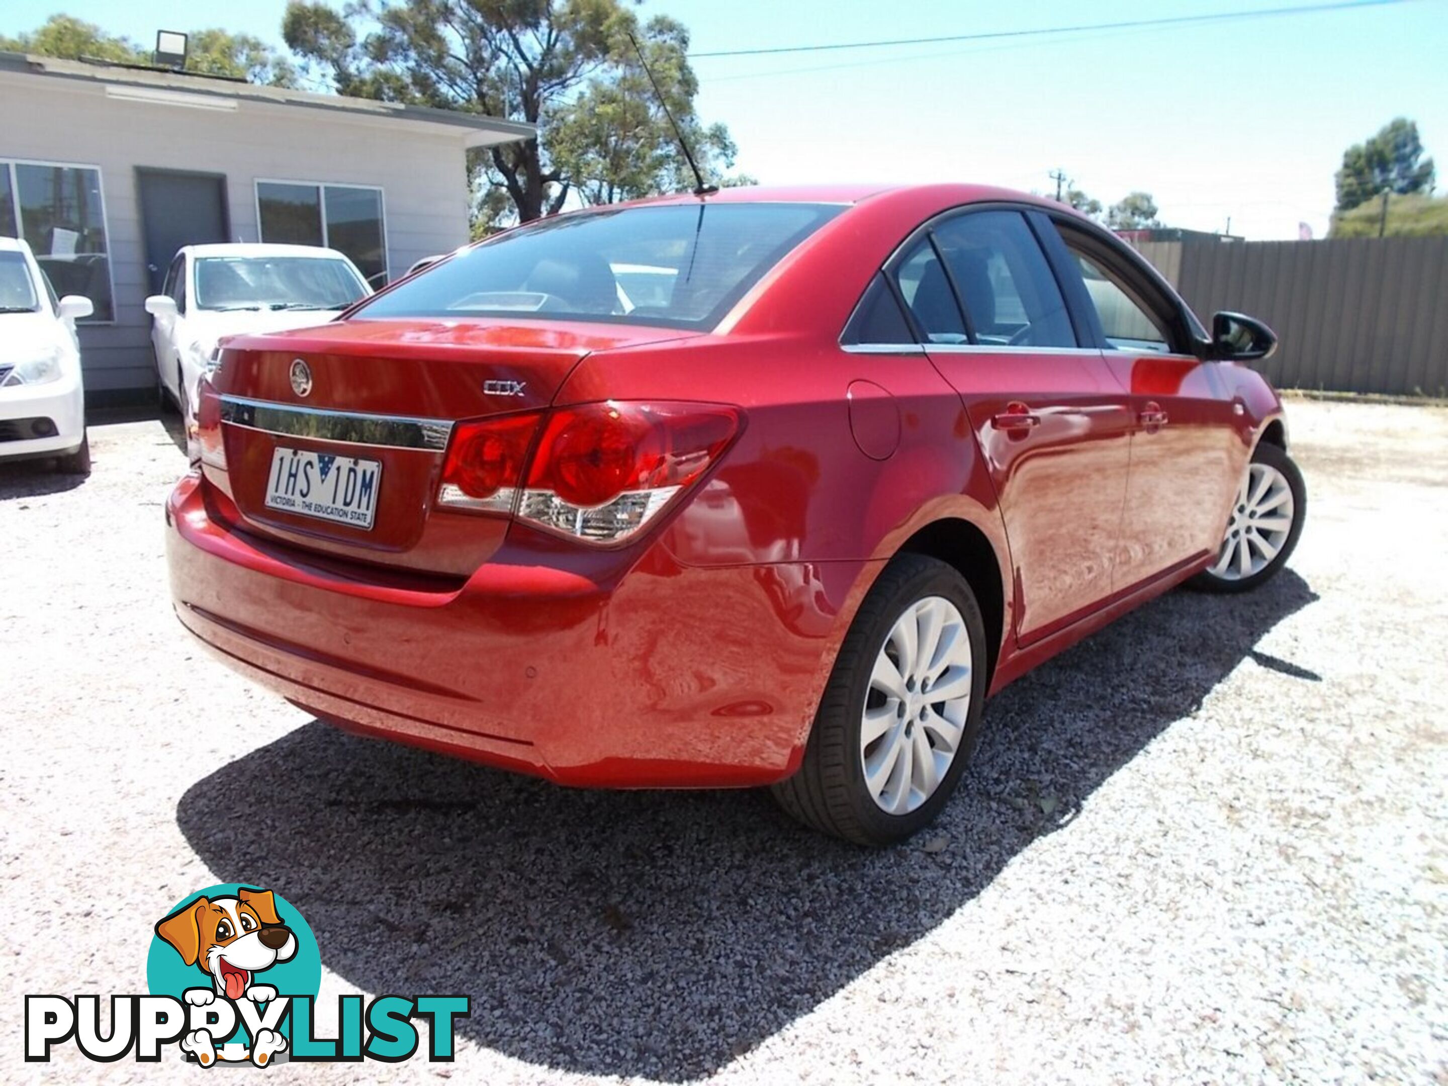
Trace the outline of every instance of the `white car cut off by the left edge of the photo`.
<path fill-rule="evenodd" d="M 90 475 L 75 321 L 90 298 L 56 300 L 30 246 L 0 237 L 0 458 L 55 458 Z"/>

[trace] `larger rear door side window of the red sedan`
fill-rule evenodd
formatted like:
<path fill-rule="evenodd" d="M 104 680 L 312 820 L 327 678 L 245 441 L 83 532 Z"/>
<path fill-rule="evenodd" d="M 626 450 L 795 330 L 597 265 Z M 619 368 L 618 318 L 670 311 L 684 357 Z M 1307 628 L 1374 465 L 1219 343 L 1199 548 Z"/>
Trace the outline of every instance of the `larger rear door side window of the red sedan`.
<path fill-rule="evenodd" d="M 1061 290 L 1018 211 L 961 214 L 934 233 L 977 343 L 1076 346 Z"/>

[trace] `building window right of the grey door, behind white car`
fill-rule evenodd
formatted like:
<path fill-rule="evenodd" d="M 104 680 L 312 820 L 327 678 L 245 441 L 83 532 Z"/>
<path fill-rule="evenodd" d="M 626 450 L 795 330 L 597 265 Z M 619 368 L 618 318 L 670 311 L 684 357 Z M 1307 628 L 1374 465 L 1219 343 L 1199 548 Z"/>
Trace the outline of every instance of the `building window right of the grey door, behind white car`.
<path fill-rule="evenodd" d="M 387 275 L 381 188 L 258 181 L 256 219 L 264 242 L 337 249 L 372 285 Z"/>

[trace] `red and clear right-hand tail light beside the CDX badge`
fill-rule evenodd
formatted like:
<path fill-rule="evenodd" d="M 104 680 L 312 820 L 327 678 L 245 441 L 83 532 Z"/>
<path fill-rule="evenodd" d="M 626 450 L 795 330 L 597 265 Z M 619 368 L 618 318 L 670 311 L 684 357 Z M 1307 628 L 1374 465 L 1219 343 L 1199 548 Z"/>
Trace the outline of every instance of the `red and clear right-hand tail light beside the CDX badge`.
<path fill-rule="evenodd" d="M 604 403 L 468 423 L 447 449 L 437 502 L 618 543 L 718 459 L 738 421 L 714 404 Z"/>

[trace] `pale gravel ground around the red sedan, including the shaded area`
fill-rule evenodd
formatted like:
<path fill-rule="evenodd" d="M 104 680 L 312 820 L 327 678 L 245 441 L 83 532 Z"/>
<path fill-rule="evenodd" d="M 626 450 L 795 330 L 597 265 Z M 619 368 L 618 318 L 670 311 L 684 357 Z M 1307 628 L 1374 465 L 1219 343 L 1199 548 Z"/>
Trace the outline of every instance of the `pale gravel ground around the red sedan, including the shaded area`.
<path fill-rule="evenodd" d="M 1448 411 L 1293 401 L 1292 568 L 1174 592 L 986 711 L 940 830 L 866 853 L 759 792 L 571 792 L 352 738 L 171 615 L 156 421 L 0 468 L 0 1079 L 26 992 L 145 990 L 213 882 L 337 992 L 466 992 L 458 1063 L 272 1079 L 1448 1082 Z"/>

